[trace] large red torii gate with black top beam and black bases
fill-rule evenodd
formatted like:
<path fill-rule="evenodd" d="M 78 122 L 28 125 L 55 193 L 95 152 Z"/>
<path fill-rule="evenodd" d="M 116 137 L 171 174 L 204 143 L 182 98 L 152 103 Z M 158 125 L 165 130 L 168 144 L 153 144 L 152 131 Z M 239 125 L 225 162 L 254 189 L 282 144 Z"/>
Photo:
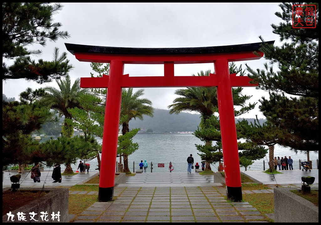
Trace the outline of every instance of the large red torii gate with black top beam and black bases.
<path fill-rule="evenodd" d="M 268 42 L 273 44 L 274 41 Z M 113 200 L 122 88 L 217 86 L 227 197 L 242 200 L 238 144 L 232 87 L 256 86 L 247 76 L 230 74 L 229 62 L 256 60 L 261 43 L 196 48 L 121 48 L 67 44 L 69 52 L 84 62 L 110 63 L 109 75 L 82 77 L 82 88 L 108 88 L 102 142 L 98 199 Z M 257 54 L 253 52 L 256 51 Z M 213 63 L 210 76 L 174 76 L 174 64 Z M 164 76 L 130 77 L 125 64 L 164 64 Z"/>

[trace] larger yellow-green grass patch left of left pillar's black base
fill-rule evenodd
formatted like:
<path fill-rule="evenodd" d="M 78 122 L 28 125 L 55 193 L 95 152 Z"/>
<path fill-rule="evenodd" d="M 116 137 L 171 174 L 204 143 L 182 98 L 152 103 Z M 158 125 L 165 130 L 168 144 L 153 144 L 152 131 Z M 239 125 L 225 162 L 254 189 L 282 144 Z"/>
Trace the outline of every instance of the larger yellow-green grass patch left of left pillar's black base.
<path fill-rule="evenodd" d="M 87 186 L 87 185 L 86 185 Z M 86 196 L 86 197 L 85 197 Z M 68 213 L 79 215 L 98 201 L 97 195 L 69 195 Z M 72 222 L 72 221 L 70 221 Z"/>

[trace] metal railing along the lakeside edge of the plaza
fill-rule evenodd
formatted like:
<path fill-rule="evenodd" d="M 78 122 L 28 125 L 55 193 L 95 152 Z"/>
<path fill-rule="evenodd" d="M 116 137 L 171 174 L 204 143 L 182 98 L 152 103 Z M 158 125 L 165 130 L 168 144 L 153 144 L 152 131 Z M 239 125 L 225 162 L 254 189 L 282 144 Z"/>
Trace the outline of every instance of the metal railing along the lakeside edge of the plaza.
<path fill-rule="evenodd" d="M 303 161 L 302 161 L 303 162 Z M 89 171 L 95 171 L 97 172 L 96 168 L 98 168 L 98 162 L 88 162 L 90 164 L 90 169 Z M 132 162 L 132 163 L 128 163 L 128 167 L 129 167 L 129 171 L 131 171 L 132 173 L 135 173 L 136 170 L 139 169 L 139 163 L 140 161 L 137 162 Z M 116 168 L 115 168 L 115 172 L 119 172 L 119 168 L 118 165 L 119 163 L 117 163 L 116 161 Z M 44 166 L 44 169 L 48 170 L 48 169 L 53 169 L 53 166 Z M 61 164 L 61 169 L 65 169 L 66 166 L 64 164 Z M 169 163 L 153 163 L 150 162 L 148 163 L 148 167 L 147 167 L 147 172 L 149 173 L 177 173 L 177 172 L 187 172 L 187 163 L 172 163 L 172 166 L 174 167 L 173 171 L 169 170 Z M 194 164 L 195 166 L 195 164 Z M 71 165 L 73 170 L 77 170 L 78 164 L 72 164 Z M 213 171 L 219 171 L 219 163 L 213 163 L 211 164 L 211 169 Z M 269 168 L 269 164 L 268 161 L 256 161 L 254 162 L 252 165 L 247 167 L 247 171 L 265 171 Z M 319 169 L 319 160 L 311 160 L 310 161 L 310 168 L 311 169 Z M 301 160 L 294 160 L 293 161 L 293 169 L 294 170 L 301 170 L 302 166 L 301 166 Z M 245 171 L 245 167 L 244 166 L 240 166 L 240 170 L 241 171 Z"/>

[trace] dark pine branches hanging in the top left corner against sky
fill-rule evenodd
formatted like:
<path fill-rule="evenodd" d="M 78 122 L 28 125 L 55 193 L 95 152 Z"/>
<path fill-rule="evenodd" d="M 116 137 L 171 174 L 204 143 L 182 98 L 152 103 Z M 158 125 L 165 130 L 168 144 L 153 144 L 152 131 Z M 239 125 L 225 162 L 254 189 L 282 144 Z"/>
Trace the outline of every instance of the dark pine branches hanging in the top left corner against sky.
<path fill-rule="evenodd" d="M 27 48 L 70 37 L 68 32 L 59 31 L 61 23 L 53 22 L 53 15 L 62 7 L 59 3 L 2 3 L 2 80 L 26 79 L 42 84 L 68 75 L 73 66 L 69 64 L 66 52 L 59 55 L 58 48 L 55 48 L 52 61 L 39 59 L 36 62 L 30 55 L 39 56 L 41 51 Z M 8 66 L 4 59 L 14 62 Z"/>

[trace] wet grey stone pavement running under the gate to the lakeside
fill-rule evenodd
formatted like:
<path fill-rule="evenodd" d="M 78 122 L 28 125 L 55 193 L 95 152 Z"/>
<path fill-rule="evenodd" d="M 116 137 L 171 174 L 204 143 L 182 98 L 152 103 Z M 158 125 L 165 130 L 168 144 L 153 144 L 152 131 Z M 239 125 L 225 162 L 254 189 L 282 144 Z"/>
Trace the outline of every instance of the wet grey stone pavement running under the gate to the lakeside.
<path fill-rule="evenodd" d="M 270 189 L 242 191 L 243 194 L 273 193 L 274 188 L 298 187 L 302 176 L 313 176 L 318 187 L 318 170 L 281 171 L 269 175 L 245 171 L 247 176 Z M 216 172 L 218 173 L 218 172 Z M 11 173 L 15 175 L 17 173 Z M 82 184 L 97 173 L 63 176 L 62 183 L 52 183 L 51 172 L 41 173 L 34 183 L 30 174 L 22 174 L 21 187 L 71 187 Z M 10 187 L 10 175 L 4 173 L 3 187 Z M 217 174 L 216 174 L 217 175 Z M 69 215 L 72 222 L 271 222 L 273 214 L 259 212 L 248 202 L 227 201 L 224 184 L 218 176 L 199 173 L 137 173 L 126 177 L 126 184 L 114 187 L 114 201 L 95 202 L 81 215 Z M 71 195 L 98 195 L 97 191 L 69 191 Z"/>

